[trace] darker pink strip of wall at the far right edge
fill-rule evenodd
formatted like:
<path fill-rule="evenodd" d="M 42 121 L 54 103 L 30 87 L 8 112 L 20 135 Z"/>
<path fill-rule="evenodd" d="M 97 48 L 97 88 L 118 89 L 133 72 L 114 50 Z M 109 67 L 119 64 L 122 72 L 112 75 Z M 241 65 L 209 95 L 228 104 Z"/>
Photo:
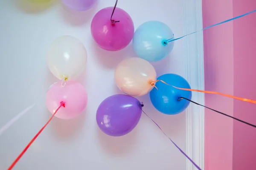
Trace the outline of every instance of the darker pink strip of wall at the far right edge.
<path fill-rule="evenodd" d="M 256 9 L 256 0 L 233 0 L 233 16 Z M 256 99 L 256 12 L 233 22 L 234 95 Z M 233 115 L 256 125 L 256 105 L 234 100 Z M 233 170 L 256 170 L 256 129 L 234 121 Z"/>

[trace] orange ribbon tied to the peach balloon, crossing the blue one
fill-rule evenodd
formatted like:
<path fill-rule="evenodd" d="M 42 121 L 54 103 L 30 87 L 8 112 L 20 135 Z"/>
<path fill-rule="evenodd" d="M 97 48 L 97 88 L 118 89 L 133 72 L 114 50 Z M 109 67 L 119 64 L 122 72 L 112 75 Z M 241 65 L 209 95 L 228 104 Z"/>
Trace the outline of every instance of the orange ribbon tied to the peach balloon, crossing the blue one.
<path fill-rule="evenodd" d="M 165 83 L 166 85 L 169 85 L 166 82 L 164 82 L 163 80 L 151 81 L 150 83 L 151 83 L 152 86 L 157 88 L 155 86 L 155 82 L 159 82 L 159 81 Z M 241 97 L 232 96 L 232 95 L 229 95 L 229 94 L 223 94 L 223 93 L 219 93 L 219 92 L 216 92 L 216 91 L 203 91 L 203 90 L 196 90 L 196 89 L 190 89 L 190 88 L 178 88 L 178 87 L 175 87 L 173 85 L 170 85 L 170 86 L 172 86 L 174 88 L 177 88 L 177 89 L 180 89 L 180 90 L 184 90 L 184 91 L 196 91 L 196 92 L 207 93 L 207 94 L 218 94 L 218 95 L 221 95 L 221 96 L 226 96 L 226 97 L 229 97 L 229 98 L 238 99 L 238 100 L 241 100 L 243 102 L 249 102 L 249 103 L 256 104 L 256 100 L 241 98 Z"/>

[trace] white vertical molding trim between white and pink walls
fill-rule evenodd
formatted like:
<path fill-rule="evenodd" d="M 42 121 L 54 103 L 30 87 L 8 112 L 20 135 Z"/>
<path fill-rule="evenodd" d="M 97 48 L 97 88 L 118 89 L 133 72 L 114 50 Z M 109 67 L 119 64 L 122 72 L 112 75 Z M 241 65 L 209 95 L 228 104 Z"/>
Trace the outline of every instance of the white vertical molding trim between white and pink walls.
<path fill-rule="evenodd" d="M 202 0 L 183 0 L 183 34 L 203 28 Z M 203 31 L 183 38 L 186 80 L 191 88 L 204 90 Z M 192 100 L 204 105 L 203 93 L 192 93 Z M 204 170 L 204 108 L 190 104 L 186 109 L 186 153 Z M 187 160 L 187 170 L 196 167 Z"/>

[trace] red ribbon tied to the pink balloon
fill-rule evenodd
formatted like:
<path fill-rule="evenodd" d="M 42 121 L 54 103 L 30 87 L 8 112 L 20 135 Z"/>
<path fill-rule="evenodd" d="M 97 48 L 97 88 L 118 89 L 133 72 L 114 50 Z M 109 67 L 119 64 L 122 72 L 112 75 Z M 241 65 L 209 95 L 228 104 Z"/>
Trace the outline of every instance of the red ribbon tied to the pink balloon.
<path fill-rule="evenodd" d="M 30 145 L 35 141 L 35 139 L 40 135 L 40 133 L 44 130 L 44 128 L 49 124 L 49 122 L 52 120 L 53 116 L 57 113 L 57 111 L 61 107 L 65 108 L 65 102 L 60 102 L 60 106 L 56 109 L 56 111 L 52 114 L 51 118 L 47 121 L 47 123 L 38 131 L 38 133 L 34 136 L 34 138 L 29 142 L 29 144 L 25 147 L 25 149 L 20 153 L 20 155 L 15 159 L 15 161 L 12 162 L 11 166 L 8 168 L 8 170 L 12 170 L 12 168 L 15 166 L 15 164 L 20 160 L 20 158 L 23 156 L 23 154 L 28 150 Z"/>

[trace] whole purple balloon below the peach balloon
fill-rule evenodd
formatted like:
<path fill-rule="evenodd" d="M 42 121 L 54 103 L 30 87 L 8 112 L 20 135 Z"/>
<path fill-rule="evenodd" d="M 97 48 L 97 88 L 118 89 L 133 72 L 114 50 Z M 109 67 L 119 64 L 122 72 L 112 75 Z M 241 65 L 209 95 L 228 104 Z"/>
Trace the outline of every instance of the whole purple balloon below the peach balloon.
<path fill-rule="evenodd" d="M 116 94 L 99 105 L 96 121 L 99 128 L 110 136 L 123 136 L 138 124 L 142 113 L 140 101 L 132 96 Z"/>

